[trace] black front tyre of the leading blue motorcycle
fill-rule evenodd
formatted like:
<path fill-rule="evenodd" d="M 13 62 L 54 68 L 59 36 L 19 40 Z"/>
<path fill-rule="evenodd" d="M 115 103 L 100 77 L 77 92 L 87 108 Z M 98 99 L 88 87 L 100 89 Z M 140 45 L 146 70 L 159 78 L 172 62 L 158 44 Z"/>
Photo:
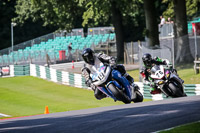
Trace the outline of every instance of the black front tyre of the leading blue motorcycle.
<path fill-rule="evenodd" d="M 113 93 L 113 95 L 117 98 L 117 100 L 120 100 L 124 102 L 125 104 L 131 103 L 131 101 L 128 99 L 128 97 L 123 93 L 123 91 L 119 90 L 115 85 L 110 84 L 108 86 L 110 91 Z"/>

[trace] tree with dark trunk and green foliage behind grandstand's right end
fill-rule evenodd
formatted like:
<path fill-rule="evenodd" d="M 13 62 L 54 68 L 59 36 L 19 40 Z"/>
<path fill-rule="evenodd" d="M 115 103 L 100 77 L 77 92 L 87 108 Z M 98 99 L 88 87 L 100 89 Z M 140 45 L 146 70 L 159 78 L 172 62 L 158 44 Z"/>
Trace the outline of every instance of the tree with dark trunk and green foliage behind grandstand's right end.
<path fill-rule="evenodd" d="M 125 24 L 127 17 L 134 18 L 139 14 L 141 0 L 80 0 L 81 5 L 86 5 L 86 11 L 83 15 L 83 25 L 89 24 L 89 21 L 94 23 L 105 23 L 111 21 L 115 28 L 116 43 L 117 43 L 117 59 L 124 60 L 124 38 Z M 134 21 L 133 21 L 134 22 Z"/>

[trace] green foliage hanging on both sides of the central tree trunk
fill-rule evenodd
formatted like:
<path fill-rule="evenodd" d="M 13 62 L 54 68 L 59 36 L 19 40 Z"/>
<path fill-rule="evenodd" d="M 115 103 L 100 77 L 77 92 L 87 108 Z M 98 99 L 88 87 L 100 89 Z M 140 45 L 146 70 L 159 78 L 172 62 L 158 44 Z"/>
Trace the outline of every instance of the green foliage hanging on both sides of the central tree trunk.
<path fill-rule="evenodd" d="M 111 20 L 111 6 L 113 0 L 79 0 L 79 4 L 86 7 L 83 14 L 83 26 L 97 26 Z M 118 0 L 116 1 L 117 8 L 123 16 L 123 24 L 126 25 L 129 20 L 126 18 L 132 17 L 132 22 L 138 26 L 136 17 L 141 15 L 142 0 Z M 90 22 L 94 23 L 90 23 Z"/>

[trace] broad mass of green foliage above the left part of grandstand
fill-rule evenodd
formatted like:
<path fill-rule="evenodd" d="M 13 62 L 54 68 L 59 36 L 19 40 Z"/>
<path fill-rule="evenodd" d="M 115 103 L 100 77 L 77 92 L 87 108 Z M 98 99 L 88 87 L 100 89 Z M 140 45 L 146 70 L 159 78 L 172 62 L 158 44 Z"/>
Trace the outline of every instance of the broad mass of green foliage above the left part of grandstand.
<path fill-rule="evenodd" d="M 43 25 L 53 25 L 60 29 L 71 30 L 80 26 L 83 8 L 76 0 L 18 0 L 18 16 L 14 21 L 23 23 L 27 19 L 43 20 Z"/>

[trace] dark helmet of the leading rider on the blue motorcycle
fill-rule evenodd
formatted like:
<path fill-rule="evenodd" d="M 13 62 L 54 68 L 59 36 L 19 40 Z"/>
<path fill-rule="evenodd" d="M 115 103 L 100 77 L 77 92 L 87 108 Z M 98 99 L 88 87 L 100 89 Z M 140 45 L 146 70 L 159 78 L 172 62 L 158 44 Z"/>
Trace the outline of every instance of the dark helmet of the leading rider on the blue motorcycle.
<path fill-rule="evenodd" d="M 90 48 L 84 49 L 82 52 L 82 57 L 86 63 L 94 65 L 94 51 L 92 51 L 92 49 Z"/>

